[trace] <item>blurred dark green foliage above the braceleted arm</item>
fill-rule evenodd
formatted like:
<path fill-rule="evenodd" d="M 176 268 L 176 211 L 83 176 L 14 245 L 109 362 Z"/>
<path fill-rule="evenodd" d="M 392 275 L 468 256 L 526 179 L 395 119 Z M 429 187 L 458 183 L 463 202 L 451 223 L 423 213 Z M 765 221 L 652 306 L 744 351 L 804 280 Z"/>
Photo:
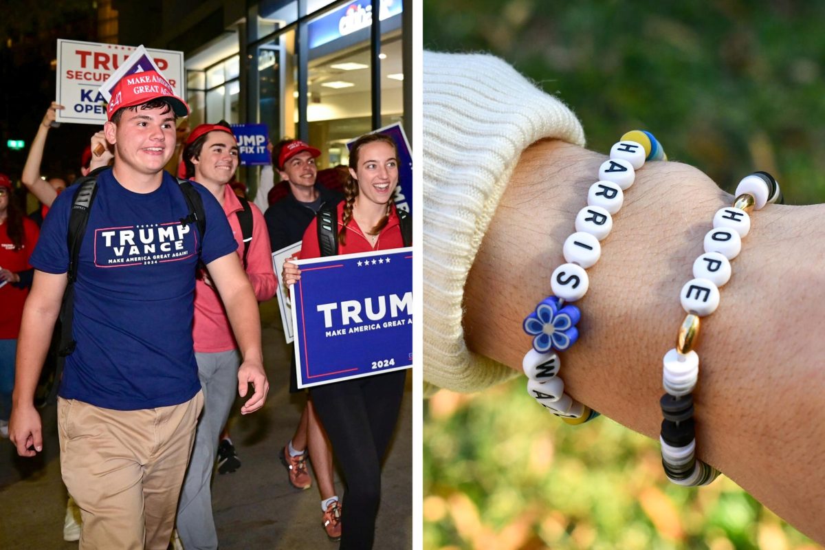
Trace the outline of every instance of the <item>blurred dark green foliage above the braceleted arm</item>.
<path fill-rule="evenodd" d="M 424 47 L 507 59 L 606 153 L 648 129 L 732 191 L 771 172 L 785 204 L 825 200 L 825 2 L 425 0 Z M 491 75 L 495 78 L 495 75 Z"/>

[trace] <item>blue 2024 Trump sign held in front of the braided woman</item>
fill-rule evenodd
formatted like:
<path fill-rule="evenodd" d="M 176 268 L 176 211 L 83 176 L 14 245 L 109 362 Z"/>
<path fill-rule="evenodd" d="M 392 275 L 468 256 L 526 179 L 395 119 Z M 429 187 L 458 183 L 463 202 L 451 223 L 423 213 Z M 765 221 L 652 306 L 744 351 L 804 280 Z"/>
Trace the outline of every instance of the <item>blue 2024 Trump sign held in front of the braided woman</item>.
<path fill-rule="evenodd" d="M 295 262 L 298 387 L 413 366 L 413 248 Z"/>

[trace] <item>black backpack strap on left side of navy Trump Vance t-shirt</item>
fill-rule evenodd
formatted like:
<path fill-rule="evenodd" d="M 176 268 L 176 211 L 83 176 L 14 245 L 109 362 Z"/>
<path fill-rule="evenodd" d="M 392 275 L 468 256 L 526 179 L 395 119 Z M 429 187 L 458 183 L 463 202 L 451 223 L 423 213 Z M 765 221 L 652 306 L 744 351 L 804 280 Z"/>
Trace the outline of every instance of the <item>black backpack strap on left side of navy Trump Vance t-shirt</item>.
<path fill-rule="evenodd" d="M 83 235 L 86 233 L 86 224 L 89 221 L 89 210 L 92 208 L 92 201 L 97 195 L 97 177 L 82 177 L 77 184 L 80 186 L 74 195 L 72 209 L 68 214 L 68 231 L 66 233 L 66 244 L 68 246 L 68 269 L 66 275 L 68 284 L 63 294 L 63 302 L 60 303 L 60 345 L 59 355 L 65 357 L 74 351 L 77 342 L 72 334 L 72 320 L 74 317 L 74 281 L 78 279 L 78 257 L 80 256 L 80 245 L 83 242 Z"/>

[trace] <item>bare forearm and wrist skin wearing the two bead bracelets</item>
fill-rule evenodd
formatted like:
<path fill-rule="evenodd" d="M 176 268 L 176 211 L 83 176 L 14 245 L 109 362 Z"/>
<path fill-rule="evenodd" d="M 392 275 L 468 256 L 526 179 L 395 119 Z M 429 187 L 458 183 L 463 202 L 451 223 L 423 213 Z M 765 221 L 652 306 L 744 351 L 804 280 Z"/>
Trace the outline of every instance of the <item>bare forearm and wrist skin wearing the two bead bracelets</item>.
<path fill-rule="evenodd" d="M 563 241 L 605 158 L 559 142 L 522 154 L 465 287 L 470 350 L 521 369 L 530 349 L 521 323 L 551 294 L 549 275 L 563 263 Z M 649 162 L 637 173 L 601 259 L 587 270 L 581 337 L 561 355 L 565 391 L 658 439 L 662 356 L 686 315 L 678 293 L 713 214 L 731 200 L 676 162 Z M 821 540 L 825 473 L 812 458 L 825 452 L 825 373 L 813 336 L 825 327 L 823 214 L 822 205 L 752 214 L 719 309 L 702 319 L 695 390 L 700 457 Z"/>

